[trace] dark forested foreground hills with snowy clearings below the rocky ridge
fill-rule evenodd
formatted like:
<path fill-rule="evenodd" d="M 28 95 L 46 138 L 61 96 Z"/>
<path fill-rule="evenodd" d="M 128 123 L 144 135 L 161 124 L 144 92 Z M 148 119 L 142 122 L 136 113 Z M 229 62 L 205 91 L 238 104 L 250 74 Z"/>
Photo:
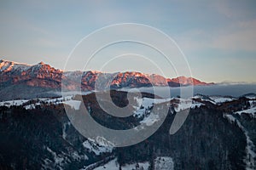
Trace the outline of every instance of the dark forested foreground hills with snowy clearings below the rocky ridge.
<path fill-rule="evenodd" d="M 126 92 L 113 90 L 111 96 L 114 104 L 127 105 Z M 78 97 L 3 103 L 0 169 L 255 169 L 255 95 L 237 99 L 197 95 L 185 107 L 181 101 L 186 99 L 156 99 L 158 104 L 153 105 L 151 99 L 156 96 L 143 94 L 141 106 L 128 117 L 110 116 L 97 104 L 95 93 L 84 95 L 90 115 L 113 129 L 150 122 L 153 106 L 170 105 L 165 122 L 152 136 L 121 148 L 96 144 L 76 131 L 63 105 L 68 107 Z M 170 135 L 174 117 L 189 107 L 183 126 Z M 68 108 L 74 113 L 78 109 Z"/>

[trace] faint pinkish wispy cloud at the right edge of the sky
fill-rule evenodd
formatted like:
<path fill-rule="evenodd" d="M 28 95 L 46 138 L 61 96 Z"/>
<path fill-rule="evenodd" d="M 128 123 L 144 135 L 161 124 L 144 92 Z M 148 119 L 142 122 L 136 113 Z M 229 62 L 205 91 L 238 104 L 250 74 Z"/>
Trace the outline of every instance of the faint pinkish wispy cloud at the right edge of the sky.
<path fill-rule="evenodd" d="M 188 50 L 214 48 L 227 51 L 256 52 L 256 20 L 237 21 L 215 31 L 192 30 L 180 35 L 179 42 Z"/>

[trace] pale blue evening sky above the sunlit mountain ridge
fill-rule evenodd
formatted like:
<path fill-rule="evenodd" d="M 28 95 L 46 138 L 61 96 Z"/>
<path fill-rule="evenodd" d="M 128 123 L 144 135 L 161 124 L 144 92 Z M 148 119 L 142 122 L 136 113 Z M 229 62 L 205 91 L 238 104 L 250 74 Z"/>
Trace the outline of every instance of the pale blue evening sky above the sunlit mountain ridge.
<path fill-rule="evenodd" d="M 2 0 L 0 58 L 31 65 L 44 61 L 62 70 L 77 70 L 79 64 L 85 65 L 90 54 L 84 54 L 86 59 L 78 58 L 76 62 L 69 56 L 84 37 L 104 26 L 137 23 L 152 26 L 171 37 L 175 43 L 170 48 L 177 44 L 175 50 L 182 51 L 172 59 L 184 58 L 191 72 L 183 72 L 183 66 L 175 62 L 166 64 L 163 55 L 134 42 L 102 50 L 84 68 L 163 72 L 166 77 L 184 75 L 206 82 L 256 82 L 255 8 L 253 0 Z M 107 33 L 104 38 L 112 36 Z M 99 41 L 101 38 L 97 37 L 95 42 Z M 169 47 L 164 42 L 158 43 Z M 112 59 L 114 56 L 118 57 Z"/>

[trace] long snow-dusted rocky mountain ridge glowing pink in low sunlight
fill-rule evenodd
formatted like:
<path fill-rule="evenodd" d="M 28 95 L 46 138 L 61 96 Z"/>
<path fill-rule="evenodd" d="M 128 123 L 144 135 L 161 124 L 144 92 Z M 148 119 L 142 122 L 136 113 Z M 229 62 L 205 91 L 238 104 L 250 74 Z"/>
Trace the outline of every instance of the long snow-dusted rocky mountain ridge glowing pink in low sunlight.
<path fill-rule="evenodd" d="M 42 94 L 50 90 L 60 91 L 61 80 L 65 80 L 65 84 L 62 84 L 62 86 L 67 90 L 80 90 L 81 88 L 83 91 L 90 91 L 95 89 L 98 77 L 104 77 L 101 79 L 101 88 L 180 87 L 212 84 L 201 82 L 192 77 L 170 79 L 155 74 L 148 75 L 129 71 L 116 74 L 98 71 L 61 71 L 43 62 L 38 63 L 38 65 L 25 65 L 3 59 L 0 60 L 0 77 L 0 94 L 5 94 L 4 88 L 12 88 L 12 91 L 22 93 L 20 88 L 30 87 L 31 95 L 37 94 L 38 88 L 40 88 L 39 92 Z M 8 94 L 5 96 L 8 96 Z M 23 96 L 26 96 L 26 94 L 21 97 L 16 96 L 16 98 L 22 98 Z M 38 96 L 41 96 L 41 94 L 39 93 Z M 9 96 L 9 99 L 11 97 Z"/>

